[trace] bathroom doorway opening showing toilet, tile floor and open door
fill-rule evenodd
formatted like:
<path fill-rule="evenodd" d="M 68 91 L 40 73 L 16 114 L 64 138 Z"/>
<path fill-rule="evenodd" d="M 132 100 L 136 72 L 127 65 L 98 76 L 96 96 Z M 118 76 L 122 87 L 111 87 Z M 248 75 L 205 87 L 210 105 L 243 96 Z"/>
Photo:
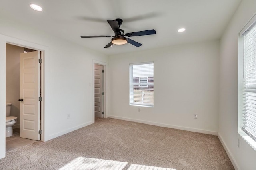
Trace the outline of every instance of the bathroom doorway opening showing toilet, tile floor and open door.
<path fill-rule="evenodd" d="M 40 56 L 6 43 L 6 120 L 15 123 L 6 130 L 6 152 L 40 140 Z"/>

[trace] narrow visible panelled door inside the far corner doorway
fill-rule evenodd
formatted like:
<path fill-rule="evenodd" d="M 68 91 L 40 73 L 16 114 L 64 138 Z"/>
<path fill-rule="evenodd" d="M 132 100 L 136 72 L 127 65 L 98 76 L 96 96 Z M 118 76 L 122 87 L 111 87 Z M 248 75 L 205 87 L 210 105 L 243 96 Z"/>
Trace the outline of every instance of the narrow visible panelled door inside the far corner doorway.
<path fill-rule="evenodd" d="M 94 75 L 95 75 L 95 79 L 94 79 L 94 89 L 95 89 L 95 103 L 94 103 L 94 108 L 95 108 L 95 116 L 96 117 L 103 117 L 102 115 L 102 106 L 103 106 L 103 102 L 102 102 L 102 92 L 103 92 L 103 66 L 102 65 L 95 65 L 95 69 L 94 69 Z"/>

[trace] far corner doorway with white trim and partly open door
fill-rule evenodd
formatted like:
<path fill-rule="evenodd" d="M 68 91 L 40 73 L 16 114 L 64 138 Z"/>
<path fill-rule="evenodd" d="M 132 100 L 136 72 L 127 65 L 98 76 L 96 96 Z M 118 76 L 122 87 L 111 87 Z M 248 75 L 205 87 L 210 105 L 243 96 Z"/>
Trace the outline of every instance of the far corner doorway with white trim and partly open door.
<path fill-rule="evenodd" d="M 107 63 L 93 61 L 93 116 L 107 117 Z"/>

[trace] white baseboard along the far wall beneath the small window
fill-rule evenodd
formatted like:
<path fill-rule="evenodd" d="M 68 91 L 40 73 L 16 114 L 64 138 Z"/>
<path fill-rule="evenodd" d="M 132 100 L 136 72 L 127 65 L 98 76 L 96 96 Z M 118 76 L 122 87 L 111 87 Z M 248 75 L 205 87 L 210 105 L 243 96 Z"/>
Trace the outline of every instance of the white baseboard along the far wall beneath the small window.
<path fill-rule="evenodd" d="M 108 115 L 108 117 L 114 118 L 114 119 L 121 119 L 121 120 L 124 120 L 124 121 L 132 121 L 132 122 L 138 122 L 138 123 L 145 123 L 145 124 L 148 124 L 148 125 L 155 125 L 155 126 L 159 126 L 159 127 L 175 128 L 175 129 L 186 130 L 186 131 L 191 131 L 191 132 L 198 132 L 198 133 L 204 133 L 204 134 L 212 134 L 212 135 L 215 135 L 215 136 L 218 135 L 218 132 L 209 131 L 209 130 L 202 130 L 202 129 L 196 129 L 196 128 L 188 128 L 188 127 L 180 127 L 180 126 L 168 125 L 168 124 L 164 124 L 164 123 L 143 121 L 143 120 L 139 120 L 139 119 L 130 119 L 130 118 L 126 118 L 126 117 L 119 117 L 119 116 L 112 116 L 112 115 Z"/>

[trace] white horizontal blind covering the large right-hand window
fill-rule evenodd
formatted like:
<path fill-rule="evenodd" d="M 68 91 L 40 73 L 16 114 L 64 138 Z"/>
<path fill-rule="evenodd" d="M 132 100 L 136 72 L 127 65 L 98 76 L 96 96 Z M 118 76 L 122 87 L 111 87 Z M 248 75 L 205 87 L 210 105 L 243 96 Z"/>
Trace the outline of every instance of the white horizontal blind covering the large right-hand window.
<path fill-rule="evenodd" d="M 242 130 L 256 141 L 256 26 L 244 35 Z"/>

